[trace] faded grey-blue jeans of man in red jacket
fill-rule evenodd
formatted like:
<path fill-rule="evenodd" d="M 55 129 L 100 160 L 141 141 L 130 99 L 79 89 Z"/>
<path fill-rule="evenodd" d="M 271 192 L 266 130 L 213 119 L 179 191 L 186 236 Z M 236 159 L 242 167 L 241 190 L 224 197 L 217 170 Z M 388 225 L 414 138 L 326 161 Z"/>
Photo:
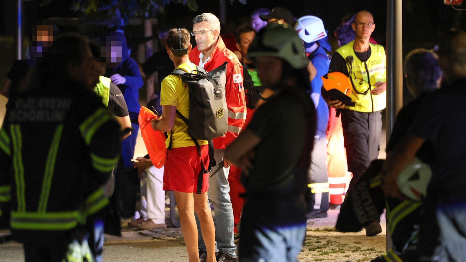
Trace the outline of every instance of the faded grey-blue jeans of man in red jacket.
<path fill-rule="evenodd" d="M 216 248 L 219 249 L 219 252 L 236 257 L 236 245 L 233 238 L 233 207 L 230 195 L 228 194 L 230 192 L 230 185 L 227 181 L 230 168 L 219 168 L 219 163 L 223 160 L 224 152 L 225 150 L 223 149 L 214 150 L 214 158 L 217 165 L 212 166 L 212 172 L 209 174 L 208 201 L 210 200 L 212 203 L 215 212 L 213 222 L 215 223 Z M 206 244 L 202 239 L 197 216 L 196 222 L 199 232 L 199 248 L 206 250 Z"/>

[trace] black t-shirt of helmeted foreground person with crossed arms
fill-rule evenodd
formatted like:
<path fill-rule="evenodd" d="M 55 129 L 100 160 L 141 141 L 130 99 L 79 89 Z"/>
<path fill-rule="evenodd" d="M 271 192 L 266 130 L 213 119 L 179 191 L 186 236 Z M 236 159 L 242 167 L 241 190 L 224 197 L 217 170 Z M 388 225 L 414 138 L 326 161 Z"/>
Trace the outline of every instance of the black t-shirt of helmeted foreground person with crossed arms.
<path fill-rule="evenodd" d="M 296 175 L 305 137 L 314 130 L 306 130 L 306 111 L 315 127 L 314 103 L 305 90 L 295 94 L 282 91 L 277 97 L 261 105 L 247 126 L 260 137 L 254 148 L 253 168 L 250 175 L 241 177 L 248 195 L 267 195 L 267 198 L 299 195 L 306 190 L 307 172 L 304 181 Z"/>

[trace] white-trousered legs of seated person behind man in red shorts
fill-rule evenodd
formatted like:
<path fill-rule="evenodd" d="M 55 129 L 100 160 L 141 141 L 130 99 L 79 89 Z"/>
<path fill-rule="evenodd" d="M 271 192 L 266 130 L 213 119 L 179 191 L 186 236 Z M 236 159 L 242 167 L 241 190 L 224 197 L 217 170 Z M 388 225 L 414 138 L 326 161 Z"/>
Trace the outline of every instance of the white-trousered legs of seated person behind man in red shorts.
<path fill-rule="evenodd" d="M 142 157 L 136 160 L 133 165 L 141 179 L 141 208 L 129 224 L 139 230 L 166 228 L 165 191 L 162 190 L 164 166 L 157 168 L 151 159 Z"/>

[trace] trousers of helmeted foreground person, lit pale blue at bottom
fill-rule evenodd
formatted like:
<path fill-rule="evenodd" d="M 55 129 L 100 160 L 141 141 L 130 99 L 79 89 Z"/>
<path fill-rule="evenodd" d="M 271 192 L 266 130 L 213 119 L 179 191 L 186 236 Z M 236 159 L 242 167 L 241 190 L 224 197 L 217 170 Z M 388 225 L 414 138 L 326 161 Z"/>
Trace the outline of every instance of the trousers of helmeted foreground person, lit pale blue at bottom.
<path fill-rule="evenodd" d="M 247 196 L 240 235 L 241 262 L 296 262 L 306 235 L 303 201 Z"/>

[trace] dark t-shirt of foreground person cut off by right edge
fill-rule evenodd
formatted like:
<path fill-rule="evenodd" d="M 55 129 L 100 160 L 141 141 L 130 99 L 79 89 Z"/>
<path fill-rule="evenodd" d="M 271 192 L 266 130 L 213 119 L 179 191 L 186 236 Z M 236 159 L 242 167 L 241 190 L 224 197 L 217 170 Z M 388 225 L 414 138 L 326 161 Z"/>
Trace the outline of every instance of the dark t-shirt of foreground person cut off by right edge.
<path fill-rule="evenodd" d="M 466 110 L 458 106 L 464 101 L 466 78 L 429 94 L 411 124 L 410 135 L 432 143 L 433 185 L 440 186 L 452 180 L 455 168 L 466 159 Z"/>

